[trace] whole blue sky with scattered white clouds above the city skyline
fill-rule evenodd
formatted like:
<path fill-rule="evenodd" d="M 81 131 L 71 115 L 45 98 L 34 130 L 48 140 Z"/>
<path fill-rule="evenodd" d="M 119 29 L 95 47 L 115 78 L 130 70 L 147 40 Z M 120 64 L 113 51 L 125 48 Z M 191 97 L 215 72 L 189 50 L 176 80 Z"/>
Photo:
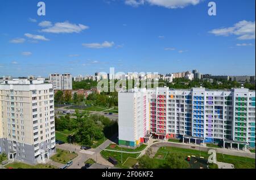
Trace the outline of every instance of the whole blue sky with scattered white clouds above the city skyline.
<path fill-rule="evenodd" d="M 255 1 L 1 0 L 0 76 L 255 74 Z"/>

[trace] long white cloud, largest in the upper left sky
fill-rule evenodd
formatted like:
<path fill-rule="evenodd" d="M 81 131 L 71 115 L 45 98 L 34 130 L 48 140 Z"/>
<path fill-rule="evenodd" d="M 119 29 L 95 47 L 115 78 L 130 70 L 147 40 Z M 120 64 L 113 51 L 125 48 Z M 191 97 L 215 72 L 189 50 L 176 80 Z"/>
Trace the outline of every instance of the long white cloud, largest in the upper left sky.
<path fill-rule="evenodd" d="M 41 30 L 42 32 L 50 32 L 50 33 L 79 33 L 82 30 L 88 29 L 88 26 L 84 26 L 82 24 L 71 24 L 68 21 L 63 23 L 55 23 L 54 26 L 45 28 Z"/>

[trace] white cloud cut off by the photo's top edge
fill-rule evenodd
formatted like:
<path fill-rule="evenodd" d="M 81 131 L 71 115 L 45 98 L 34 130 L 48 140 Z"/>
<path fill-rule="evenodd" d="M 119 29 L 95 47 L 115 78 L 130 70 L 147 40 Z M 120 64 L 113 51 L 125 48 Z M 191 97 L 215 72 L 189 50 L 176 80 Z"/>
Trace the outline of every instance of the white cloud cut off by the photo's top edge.
<path fill-rule="evenodd" d="M 197 5 L 203 0 L 125 0 L 126 5 L 138 7 L 146 3 L 150 5 L 162 6 L 168 9 L 184 8 L 189 5 Z"/>

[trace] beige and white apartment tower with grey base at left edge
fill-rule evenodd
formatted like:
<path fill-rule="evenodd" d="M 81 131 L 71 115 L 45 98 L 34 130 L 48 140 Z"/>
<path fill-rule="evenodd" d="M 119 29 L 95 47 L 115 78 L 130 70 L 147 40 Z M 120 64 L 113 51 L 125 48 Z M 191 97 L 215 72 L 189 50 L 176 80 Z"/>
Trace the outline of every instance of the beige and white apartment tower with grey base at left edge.
<path fill-rule="evenodd" d="M 0 83 L 0 153 L 30 164 L 55 153 L 54 92 L 43 80 Z"/>

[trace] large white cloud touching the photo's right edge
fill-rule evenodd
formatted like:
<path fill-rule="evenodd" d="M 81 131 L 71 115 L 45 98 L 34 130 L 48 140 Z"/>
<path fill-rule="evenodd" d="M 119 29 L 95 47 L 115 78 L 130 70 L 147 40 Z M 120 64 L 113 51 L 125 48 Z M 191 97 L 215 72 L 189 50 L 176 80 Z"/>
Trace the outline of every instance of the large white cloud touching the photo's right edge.
<path fill-rule="evenodd" d="M 230 36 L 236 35 L 237 39 L 240 40 L 250 40 L 255 39 L 255 21 L 250 22 L 246 20 L 242 20 L 233 27 L 228 28 L 218 28 L 210 31 L 209 33 L 214 34 L 216 36 Z"/>

